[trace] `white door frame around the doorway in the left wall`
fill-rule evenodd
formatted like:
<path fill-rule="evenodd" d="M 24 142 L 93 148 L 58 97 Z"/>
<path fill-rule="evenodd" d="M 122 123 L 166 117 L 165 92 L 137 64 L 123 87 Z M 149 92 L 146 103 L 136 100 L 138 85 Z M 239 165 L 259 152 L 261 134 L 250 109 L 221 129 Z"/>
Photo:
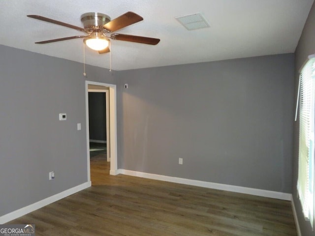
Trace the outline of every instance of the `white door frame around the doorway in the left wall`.
<path fill-rule="evenodd" d="M 89 131 L 89 85 L 104 86 L 109 88 L 109 139 L 110 139 L 110 175 L 118 175 L 117 171 L 117 103 L 116 85 L 93 81 L 85 81 L 85 114 L 87 134 L 87 170 L 88 181 L 91 181 L 90 170 L 90 131 Z"/>

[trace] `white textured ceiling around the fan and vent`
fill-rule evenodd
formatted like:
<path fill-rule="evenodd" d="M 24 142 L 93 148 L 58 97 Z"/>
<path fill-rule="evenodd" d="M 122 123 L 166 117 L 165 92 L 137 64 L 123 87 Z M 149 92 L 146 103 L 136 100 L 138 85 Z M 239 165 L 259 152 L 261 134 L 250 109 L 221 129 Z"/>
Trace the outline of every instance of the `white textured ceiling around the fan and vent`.
<path fill-rule="evenodd" d="M 143 21 L 119 33 L 160 38 L 158 45 L 112 40 L 112 69 L 126 70 L 292 53 L 314 0 L 0 0 L 0 44 L 83 62 L 83 39 L 36 41 L 82 32 L 28 18 L 41 15 L 83 27 L 80 16 L 112 19 L 133 11 Z M 200 12 L 210 28 L 187 30 L 176 19 Z M 110 67 L 110 55 L 88 48 L 86 63 Z"/>

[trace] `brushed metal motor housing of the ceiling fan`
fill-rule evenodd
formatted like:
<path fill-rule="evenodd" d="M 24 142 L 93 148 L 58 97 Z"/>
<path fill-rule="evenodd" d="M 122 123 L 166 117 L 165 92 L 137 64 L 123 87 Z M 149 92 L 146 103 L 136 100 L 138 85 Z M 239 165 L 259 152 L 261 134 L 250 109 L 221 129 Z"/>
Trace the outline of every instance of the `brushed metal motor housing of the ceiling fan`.
<path fill-rule="evenodd" d="M 81 15 L 81 21 L 84 29 L 100 29 L 106 23 L 110 22 L 110 17 L 103 13 L 88 12 Z"/>

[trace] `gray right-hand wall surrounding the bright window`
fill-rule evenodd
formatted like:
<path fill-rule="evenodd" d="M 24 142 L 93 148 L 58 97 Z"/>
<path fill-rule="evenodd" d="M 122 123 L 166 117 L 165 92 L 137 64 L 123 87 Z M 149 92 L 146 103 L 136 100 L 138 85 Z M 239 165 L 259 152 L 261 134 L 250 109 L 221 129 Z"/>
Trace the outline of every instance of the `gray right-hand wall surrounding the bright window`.
<path fill-rule="evenodd" d="M 295 51 L 295 99 L 297 96 L 297 89 L 299 83 L 298 71 L 303 66 L 309 55 L 315 54 L 315 4 L 309 13 L 308 19 L 304 26 L 300 41 Z M 315 236 L 315 232 L 312 231 L 311 224 L 309 221 L 304 220 L 302 213 L 302 207 L 300 201 L 297 199 L 297 176 L 298 176 L 298 151 L 299 151 L 299 125 L 298 121 L 294 122 L 294 152 L 293 152 L 293 185 L 292 195 L 294 205 L 296 207 L 299 225 L 301 228 L 302 236 Z"/>

